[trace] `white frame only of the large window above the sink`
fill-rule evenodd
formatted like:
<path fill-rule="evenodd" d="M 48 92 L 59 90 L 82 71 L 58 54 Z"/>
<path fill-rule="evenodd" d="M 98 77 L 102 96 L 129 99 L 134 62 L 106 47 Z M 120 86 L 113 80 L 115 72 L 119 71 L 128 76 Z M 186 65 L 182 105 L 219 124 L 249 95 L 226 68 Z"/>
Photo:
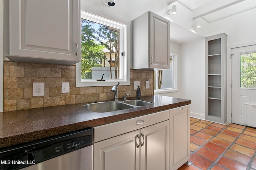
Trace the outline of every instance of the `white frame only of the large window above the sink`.
<path fill-rule="evenodd" d="M 120 70 L 120 75 L 122 79 L 106 79 L 105 81 L 97 81 L 95 79 L 82 79 L 81 78 L 81 62 L 76 63 L 76 87 L 89 87 L 89 86 L 114 86 L 120 82 L 122 85 L 130 85 L 130 24 L 125 21 L 118 21 L 115 18 L 106 16 L 106 14 L 101 14 L 96 12 L 85 12 L 81 10 L 81 19 L 90 20 L 103 25 L 108 25 L 114 28 L 120 29 L 120 53 L 124 52 L 123 59 L 120 60 L 120 65 L 123 69 Z M 81 25 L 80 25 L 81 27 Z M 81 41 L 81 39 L 80 39 Z M 123 44 L 123 45 L 121 45 Z M 81 48 L 80 48 L 81 49 Z M 121 68 L 121 67 L 120 67 Z"/>

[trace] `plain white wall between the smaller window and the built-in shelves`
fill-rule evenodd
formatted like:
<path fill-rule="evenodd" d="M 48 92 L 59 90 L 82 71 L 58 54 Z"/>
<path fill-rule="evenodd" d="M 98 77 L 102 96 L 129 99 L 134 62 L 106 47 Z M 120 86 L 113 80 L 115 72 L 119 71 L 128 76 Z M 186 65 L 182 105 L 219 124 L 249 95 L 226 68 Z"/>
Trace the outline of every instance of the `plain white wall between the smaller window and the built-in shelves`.
<path fill-rule="evenodd" d="M 205 39 L 182 45 L 171 43 L 172 51 L 179 53 L 178 92 L 159 95 L 192 100 L 190 115 L 205 119 Z"/>

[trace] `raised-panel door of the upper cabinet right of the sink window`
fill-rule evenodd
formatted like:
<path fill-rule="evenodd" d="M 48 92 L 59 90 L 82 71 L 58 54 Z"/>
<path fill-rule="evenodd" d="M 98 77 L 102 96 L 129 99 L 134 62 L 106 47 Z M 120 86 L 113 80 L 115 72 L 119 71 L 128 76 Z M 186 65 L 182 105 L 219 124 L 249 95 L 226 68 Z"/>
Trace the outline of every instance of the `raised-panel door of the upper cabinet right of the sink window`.
<path fill-rule="evenodd" d="M 150 12 L 150 68 L 170 69 L 170 21 Z"/>

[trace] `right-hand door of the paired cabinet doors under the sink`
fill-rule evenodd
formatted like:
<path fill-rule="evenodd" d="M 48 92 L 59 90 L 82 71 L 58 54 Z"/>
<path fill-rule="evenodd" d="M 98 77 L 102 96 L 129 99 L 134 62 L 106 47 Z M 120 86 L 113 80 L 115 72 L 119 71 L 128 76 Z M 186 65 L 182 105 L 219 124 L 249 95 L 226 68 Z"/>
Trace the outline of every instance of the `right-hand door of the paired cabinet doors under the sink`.
<path fill-rule="evenodd" d="M 169 121 L 140 131 L 140 170 L 169 169 Z"/>

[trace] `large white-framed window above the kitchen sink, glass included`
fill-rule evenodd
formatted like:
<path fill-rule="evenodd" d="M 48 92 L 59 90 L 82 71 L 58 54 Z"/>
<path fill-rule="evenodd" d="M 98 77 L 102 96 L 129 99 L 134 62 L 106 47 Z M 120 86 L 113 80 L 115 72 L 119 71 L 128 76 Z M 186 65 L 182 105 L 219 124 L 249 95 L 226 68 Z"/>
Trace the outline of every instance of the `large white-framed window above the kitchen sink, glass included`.
<path fill-rule="evenodd" d="M 130 85 L 127 28 L 107 18 L 81 11 L 81 62 L 76 86 Z"/>

